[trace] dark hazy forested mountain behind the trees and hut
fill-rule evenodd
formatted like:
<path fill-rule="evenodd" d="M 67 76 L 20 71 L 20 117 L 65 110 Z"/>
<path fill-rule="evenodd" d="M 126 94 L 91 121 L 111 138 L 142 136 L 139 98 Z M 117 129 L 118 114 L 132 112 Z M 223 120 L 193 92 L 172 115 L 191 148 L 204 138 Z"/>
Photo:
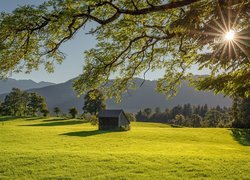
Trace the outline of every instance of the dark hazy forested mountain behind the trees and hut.
<path fill-rule="evenodd" d="M 142 79 L 135 79 L 140 84 Z M 48 87 L 32 89 L 46 98 L 49 108 L 59 107 L 63 112 L 68 112 L 71 107 L 82 109 L 83 96 L 77 97 L 76 92 L 72 88 L 73 79 Z M 108 100 L 108 108 L 123 108 L 130 112 L 137 112 L 140 109 L 150 107 L 160 107 L 162 110 L 175 105 L 190 103 L 193 105 L 208 104 L 208 106 L 230 106 L 231 100 L 224 98 L 223 95 L 214 95 L 213 92 L 195 91 L 194 88 L 183 83 L 179 88 L 179 93 L 171 100 L 166 100 L 165 96 L 155 91 L 156 81 L 146 80 L 143 86 L 137 90 L 132 90 L 129 94 L 125 94 L 120 104 L 116 104 L 113 100 Z M 0 96 L 3 100 L 4 95 Z"/>

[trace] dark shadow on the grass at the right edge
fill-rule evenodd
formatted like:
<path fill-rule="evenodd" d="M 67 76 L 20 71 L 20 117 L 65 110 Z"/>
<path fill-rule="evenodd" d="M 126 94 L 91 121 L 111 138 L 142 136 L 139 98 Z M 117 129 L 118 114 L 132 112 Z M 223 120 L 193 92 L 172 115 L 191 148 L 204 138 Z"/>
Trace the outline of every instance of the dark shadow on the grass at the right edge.
<path fill-rule="evenodd" d="M 250 129 L 232 129 L 232 136 L 243 146 L 250 146 Z"/>

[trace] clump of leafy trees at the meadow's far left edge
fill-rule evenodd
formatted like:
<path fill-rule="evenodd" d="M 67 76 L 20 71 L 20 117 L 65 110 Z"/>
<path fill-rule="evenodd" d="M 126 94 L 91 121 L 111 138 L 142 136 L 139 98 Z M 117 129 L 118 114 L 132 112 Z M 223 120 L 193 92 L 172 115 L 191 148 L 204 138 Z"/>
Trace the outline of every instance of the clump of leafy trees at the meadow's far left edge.
<path fill-rule="evenodd" d="M 4 102 L 0 102 L 0 115 L 2 116 L 43 116 L 49 115 L 45 99 L 37 93 L 21 91 L 13 88 L 6 95 Z"/>

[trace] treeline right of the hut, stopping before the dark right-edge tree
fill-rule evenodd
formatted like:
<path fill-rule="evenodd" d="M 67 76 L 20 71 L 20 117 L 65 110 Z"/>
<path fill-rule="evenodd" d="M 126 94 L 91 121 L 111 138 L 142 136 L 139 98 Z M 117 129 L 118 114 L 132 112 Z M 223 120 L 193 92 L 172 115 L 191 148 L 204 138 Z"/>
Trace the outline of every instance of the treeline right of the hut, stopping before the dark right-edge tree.
<path fill-rule="evenodd" d="M 145 108 L 136 114 L 137 121 L 170 123 L 187 127 L 232 127 L 233 111 L 227 107 L 209 108 L 191 104 L 177 105 L 161 111 L 160 108 Z"/>

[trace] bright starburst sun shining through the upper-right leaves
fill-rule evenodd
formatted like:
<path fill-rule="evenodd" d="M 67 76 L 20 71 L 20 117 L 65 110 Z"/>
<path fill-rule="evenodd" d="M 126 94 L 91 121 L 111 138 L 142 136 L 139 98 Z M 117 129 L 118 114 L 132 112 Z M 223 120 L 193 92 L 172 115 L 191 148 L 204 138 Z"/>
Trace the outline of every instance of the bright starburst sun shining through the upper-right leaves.
<path fill-rule="evenodd" d="M 249 32 L 244 30 L 240 26 L 241 8 L 235 9 L 232 12 L 231 1 L 227 1 L 228 4 L 224 5 L 223 9 L 218 4 L 218 17 L 211 20 L 206 24 L 209 30 L 203 31 L 201 34 L 206 35 L 207 38 L 213 39 L 214 51 L 213 56 L 217 56 L 220 59 L 225 55 L 227 58 L 236 58 L 239 51 L 243 52 L 246 57 L 249 58 Z M 242 1 L 244 3 L 244 1 Z M 238 3 L 239 7 L 243 7 L 243 4 Z M 225 7 L 226 6 L 226 7 Z M 237 12 L 237 13 L 236 13 Z M 248 27 L 249 28 L 249 27 Z M 193 31 L 194 32 L 194 31 Z M 194 33 L 197 33 L 194 32 Z M 200 32 L 198 32 L 200 34 Z"/>

